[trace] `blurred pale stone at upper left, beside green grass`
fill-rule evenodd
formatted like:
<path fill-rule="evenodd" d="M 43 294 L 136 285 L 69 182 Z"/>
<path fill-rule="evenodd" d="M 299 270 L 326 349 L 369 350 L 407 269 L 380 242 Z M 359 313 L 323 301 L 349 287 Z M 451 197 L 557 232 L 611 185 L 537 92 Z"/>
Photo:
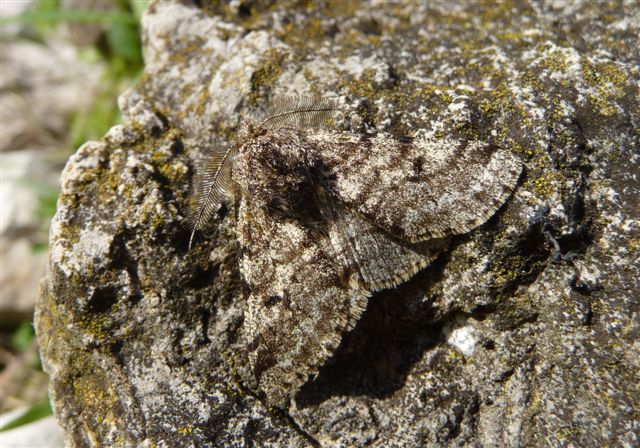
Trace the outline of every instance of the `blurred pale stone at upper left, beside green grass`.
<path fill-rule="evenodd" d="M 74 113 L 87 113 L 104 67 L 83 62 L 78 49 L 56 37 L 47 44 L 0 45 L 0 151 L 57 149 Z M 79 112 L 80 111 L 80 112 Z"/>

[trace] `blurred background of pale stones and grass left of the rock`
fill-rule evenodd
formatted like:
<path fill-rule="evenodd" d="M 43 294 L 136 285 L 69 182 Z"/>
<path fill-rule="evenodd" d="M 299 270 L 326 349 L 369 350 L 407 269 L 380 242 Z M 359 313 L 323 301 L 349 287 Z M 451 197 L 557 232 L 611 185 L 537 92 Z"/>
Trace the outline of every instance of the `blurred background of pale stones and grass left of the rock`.
<path fill-rule="evenodd" d="M 63 446 L 33 309 L 67 158 L 120 121 L 148 0 L 0 0 L 0 447 Z"/>

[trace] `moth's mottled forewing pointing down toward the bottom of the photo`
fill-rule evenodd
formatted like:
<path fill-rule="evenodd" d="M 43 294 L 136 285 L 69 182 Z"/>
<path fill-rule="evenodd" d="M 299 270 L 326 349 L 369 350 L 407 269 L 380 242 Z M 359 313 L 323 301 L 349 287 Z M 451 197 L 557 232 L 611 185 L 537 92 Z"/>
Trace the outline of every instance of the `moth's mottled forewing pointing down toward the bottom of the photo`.
<path fill-rule="evenodd" d="M 268 401 L 284 406 L 333 354 L 367 294 L 344 284 L 308 229 L 249 203 L 240 218 L 249 360 Z"/>

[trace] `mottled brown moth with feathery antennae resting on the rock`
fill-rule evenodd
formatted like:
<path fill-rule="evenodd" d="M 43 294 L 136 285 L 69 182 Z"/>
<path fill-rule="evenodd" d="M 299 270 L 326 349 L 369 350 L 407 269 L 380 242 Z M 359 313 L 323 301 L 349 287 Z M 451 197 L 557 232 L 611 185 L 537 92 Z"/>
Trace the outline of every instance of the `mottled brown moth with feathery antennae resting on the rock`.
<path fill-rule="evenodd" d="M 250 368 L 284 407 L 332 356 L 369 296 L 429 265 L 486 222 L 522 170 L 481 141 L 360 135 L 318 126 L 331 100 L 284 100 L 196 181 L 194 233 L 236 208 Z"/>

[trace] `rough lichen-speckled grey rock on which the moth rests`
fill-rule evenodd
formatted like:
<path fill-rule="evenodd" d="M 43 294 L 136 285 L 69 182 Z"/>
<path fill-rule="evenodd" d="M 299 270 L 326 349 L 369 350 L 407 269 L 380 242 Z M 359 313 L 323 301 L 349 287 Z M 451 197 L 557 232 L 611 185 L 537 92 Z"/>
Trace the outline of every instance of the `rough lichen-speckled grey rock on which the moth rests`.
<path fill-rule="evenodd" d="M 69 160 L 52 224 L 36 325 L 69 446 L 637 446 L 637 3 L 340 5 L 151 5 L 124 124 Z M 242 379 L 234 212 L 192 251 L 185 216 L 194 160 L 284 93 L 526 168 L 279 410 Z"/>

